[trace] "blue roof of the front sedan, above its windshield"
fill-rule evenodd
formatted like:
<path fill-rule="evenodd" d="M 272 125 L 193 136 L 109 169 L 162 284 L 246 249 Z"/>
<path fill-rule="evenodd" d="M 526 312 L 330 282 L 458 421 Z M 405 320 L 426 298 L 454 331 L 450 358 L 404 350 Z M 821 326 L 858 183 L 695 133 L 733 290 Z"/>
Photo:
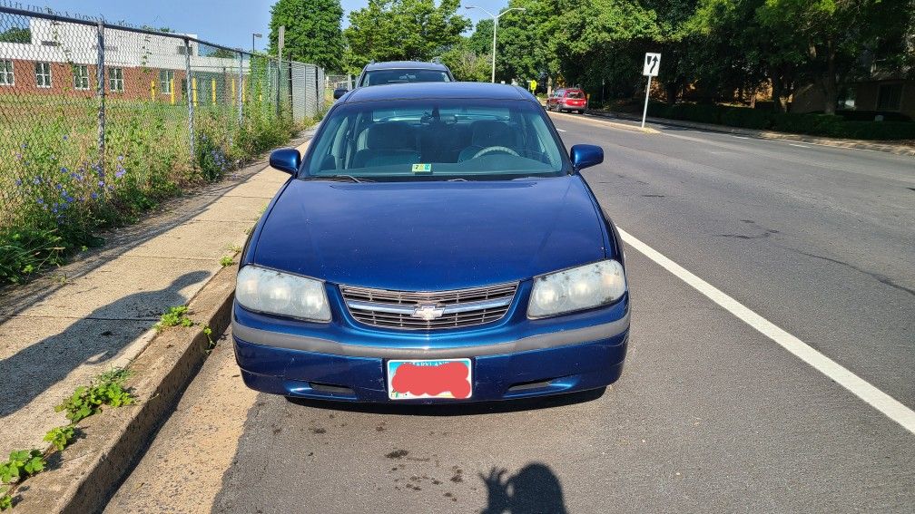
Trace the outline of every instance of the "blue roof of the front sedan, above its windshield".
<path fill-rule="evenodd" d="M 537 102 L 533 94 L 518 86 L 489 82 L 408 82 L 356 88 L 340 98 L 341 102 L 379 102 L 383 100 L 474 98 L 485 100 L 524 100 Z M 539 104 L 539 102 L 537 102 Z"/>

